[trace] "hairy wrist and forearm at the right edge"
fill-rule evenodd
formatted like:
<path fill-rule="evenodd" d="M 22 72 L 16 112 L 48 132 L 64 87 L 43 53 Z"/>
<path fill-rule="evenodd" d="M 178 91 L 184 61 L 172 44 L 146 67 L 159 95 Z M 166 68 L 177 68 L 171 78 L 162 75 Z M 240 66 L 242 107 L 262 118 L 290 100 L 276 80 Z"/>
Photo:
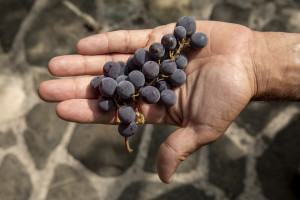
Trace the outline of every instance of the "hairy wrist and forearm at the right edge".
<path fill-rule="evenodd" d="M 254 32 L 253 100 L 300 100 L 300 34 Z"/>

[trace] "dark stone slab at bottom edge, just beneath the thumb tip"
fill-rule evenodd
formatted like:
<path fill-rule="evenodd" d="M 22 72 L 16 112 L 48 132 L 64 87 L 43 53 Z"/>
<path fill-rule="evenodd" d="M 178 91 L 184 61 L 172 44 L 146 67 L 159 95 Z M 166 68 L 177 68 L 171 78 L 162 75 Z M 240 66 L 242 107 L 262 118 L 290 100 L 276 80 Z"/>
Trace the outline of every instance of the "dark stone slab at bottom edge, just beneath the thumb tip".
<path fill-rule="evenodd" d="M 172 183 L 166 185 L 153 182 L 135 182 L 129 185 L 118 198 L 119 200 L 173 200 L 197 199 L 214 200 L 213 196 L 205 194 L 204 190 L 193 185 Z"/>

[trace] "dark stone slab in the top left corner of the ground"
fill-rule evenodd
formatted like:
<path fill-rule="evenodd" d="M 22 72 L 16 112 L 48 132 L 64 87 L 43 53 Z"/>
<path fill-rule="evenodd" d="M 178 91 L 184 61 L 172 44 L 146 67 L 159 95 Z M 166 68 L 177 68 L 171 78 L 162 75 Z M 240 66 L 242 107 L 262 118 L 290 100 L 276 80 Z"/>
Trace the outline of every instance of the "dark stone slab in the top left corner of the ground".
<path fill-rule="evenodd" d="M 4 52 L 11 49 L 14 37 L 34 0 L 0 0 L 0 40 Z"/>

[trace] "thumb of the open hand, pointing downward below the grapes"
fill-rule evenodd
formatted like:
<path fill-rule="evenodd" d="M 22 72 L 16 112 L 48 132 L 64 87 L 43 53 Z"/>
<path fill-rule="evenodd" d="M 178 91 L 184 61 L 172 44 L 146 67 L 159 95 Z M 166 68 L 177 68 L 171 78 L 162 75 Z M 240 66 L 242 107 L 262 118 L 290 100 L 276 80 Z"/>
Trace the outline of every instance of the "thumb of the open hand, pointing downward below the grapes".
<path fill-rule="evenodd" d="M 172 133 L 159 147 L 157 172 L 164 183 L 170 183 L 178 165 L 201 146 L 220 137 L 214 128 L 201 125 L 199 128 L 180 128 Z"/>

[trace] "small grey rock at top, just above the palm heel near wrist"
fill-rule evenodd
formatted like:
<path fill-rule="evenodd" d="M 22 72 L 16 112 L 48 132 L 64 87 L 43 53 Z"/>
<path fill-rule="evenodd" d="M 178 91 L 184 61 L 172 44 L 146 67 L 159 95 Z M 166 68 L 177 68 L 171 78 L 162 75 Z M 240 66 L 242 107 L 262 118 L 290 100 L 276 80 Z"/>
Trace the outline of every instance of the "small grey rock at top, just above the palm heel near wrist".
<path fill-rule="evenodd" d="M 211 20 L 237 23 L 247 26 L 250 9 L 244 9 L 235 5 L 217 4 L 211 14 Z"/>

